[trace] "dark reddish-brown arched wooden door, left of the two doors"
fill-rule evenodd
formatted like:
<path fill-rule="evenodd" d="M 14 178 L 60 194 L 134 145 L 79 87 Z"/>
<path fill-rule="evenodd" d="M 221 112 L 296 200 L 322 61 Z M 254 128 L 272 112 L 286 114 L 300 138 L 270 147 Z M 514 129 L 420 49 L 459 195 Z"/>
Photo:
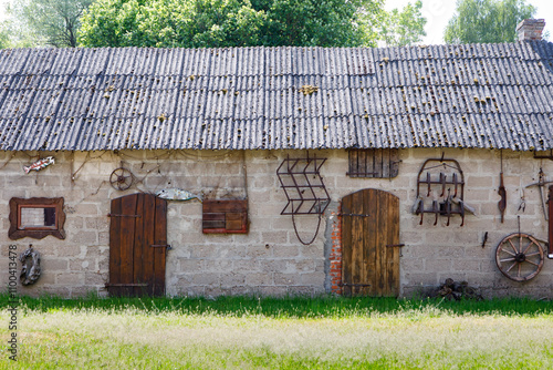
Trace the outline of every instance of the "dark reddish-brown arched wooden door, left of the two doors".
<path fill-rule="evenodd" d="M 112 201 L 109 217 L 109 295 L 165 295 L 167 202 L 126 195 Z"/>

